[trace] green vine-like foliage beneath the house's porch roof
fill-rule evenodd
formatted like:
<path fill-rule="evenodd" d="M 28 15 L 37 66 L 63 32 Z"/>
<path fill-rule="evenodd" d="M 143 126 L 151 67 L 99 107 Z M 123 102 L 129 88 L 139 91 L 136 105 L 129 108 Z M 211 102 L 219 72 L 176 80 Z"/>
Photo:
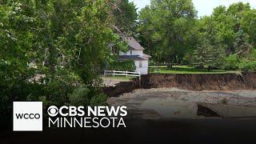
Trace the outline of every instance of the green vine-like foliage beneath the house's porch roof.
<path fill-rule="evenodd" d="M 134 71 L 136 66 L 133 60 L 129 61 L 114 61 L 110 63 L 109 70 L 120 70 L 120 71 Z"/>

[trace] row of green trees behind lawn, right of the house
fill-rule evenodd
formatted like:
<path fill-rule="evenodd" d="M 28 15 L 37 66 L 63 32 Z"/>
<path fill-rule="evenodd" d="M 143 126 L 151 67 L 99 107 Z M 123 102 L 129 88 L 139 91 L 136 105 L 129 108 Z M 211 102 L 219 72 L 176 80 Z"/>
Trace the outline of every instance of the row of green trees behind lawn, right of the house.
<path fill-rule="evenodd" d="M 153 63 L 255 70 L 256 10 L 249 3 L 218 6 L 198 18 L 192 0 L 151 0 L 138 33 Z"/>

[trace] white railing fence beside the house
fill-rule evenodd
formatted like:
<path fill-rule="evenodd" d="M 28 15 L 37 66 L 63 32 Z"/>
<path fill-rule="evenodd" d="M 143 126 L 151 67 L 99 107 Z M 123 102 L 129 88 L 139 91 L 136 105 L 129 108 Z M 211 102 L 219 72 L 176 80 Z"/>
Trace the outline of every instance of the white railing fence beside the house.
<path fill-rule="evenodd" d="M 116 71 L 116 70 L 104 70 L 104 76 L 113 75 L 114 76 L 126 76 L 128 77 L 138 77 L 139 83 L 141 83 L 141 73 L 139 72 L 130 72 L 130 71 Z"/>

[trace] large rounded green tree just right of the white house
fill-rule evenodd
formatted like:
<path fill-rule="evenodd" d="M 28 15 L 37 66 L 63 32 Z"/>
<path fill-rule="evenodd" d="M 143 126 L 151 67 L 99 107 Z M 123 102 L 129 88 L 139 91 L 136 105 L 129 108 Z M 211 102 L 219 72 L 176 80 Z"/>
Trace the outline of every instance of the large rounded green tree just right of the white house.
<path fill-rule="evenodd" d="M 196 46 L 196 10 L 191 0 L 151 0 L 140 11 L 142 45 L 156 62 L 179 63 Z"/>

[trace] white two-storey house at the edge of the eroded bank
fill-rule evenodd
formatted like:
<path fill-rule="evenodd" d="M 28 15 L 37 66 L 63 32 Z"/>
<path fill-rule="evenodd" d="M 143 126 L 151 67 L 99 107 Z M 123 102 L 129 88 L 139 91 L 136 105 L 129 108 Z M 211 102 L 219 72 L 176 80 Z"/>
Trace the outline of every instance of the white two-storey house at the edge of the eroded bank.
<path fill-rule="evenodd" d="M 144 48 L 133 38 L 126 38 L 128 41 L 128 51 L 126 53 L 119 51 L 120 60 L 134 60 L 136 72 L 148 74 L 150 55 L 144 54 Z"/>

